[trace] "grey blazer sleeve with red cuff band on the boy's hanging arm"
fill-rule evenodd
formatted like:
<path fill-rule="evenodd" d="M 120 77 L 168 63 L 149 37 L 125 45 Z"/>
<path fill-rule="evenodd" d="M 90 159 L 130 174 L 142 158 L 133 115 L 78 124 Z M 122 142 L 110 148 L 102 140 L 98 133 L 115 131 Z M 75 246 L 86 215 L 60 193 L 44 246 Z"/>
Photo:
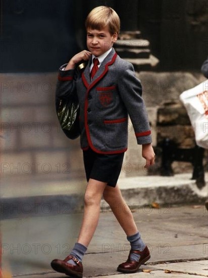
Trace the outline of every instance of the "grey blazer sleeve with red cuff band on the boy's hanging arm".
<path fill-rule="evenodd" d="M 146 107 L 142 99 L 141 83 L 135 76 L 132 64 L 125 62 L 121 68 L 118 78 L 119 93 L 133 124 L 137 144 L 149 144 L 152 142 L 151 131 Z"/>

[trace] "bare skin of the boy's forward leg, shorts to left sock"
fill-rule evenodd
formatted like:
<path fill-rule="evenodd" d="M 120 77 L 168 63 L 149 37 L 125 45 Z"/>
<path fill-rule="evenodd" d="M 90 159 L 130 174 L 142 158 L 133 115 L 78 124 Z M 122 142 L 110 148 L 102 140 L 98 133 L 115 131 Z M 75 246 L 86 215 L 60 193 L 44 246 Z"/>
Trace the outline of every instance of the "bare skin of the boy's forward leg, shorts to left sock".
<path fill-rule="evenodd" d="M 78 243 L 88 246 L 97 227 L 100 200 L 107 186 L 106 182 L 89 179 L 84 195 L 84 215 L 78 237 Z"/>

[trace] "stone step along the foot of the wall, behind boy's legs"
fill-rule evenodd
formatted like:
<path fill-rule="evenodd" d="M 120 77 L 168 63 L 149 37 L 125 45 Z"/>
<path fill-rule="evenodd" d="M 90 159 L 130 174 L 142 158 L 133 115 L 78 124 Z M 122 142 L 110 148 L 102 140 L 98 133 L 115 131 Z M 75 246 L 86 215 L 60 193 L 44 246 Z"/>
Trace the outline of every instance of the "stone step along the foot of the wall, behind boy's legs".
<path fill-rule="evenodd" d="M 166 204 L 203 203 L 206 200 L 208 175 L 205 174 L 206 185 L 200 190 L 196 181 L 191 180 L 191 175 L 127 177 L 119 178 L 118 183 L 131 209 L 146 206 L 151 210 L 153 203 L 157 203 L 158 209 L 161 209 Z M 18 218 L 27 213 L 30 216 L 56 215 L 64 213 L 64 210 L 65 213 L 81 212 L 85 187 L 84 178 L 10 184 L 1 190 L 1 217 Z M 102 200 L 101 212 L 108 209 L 109 205 Z"/>

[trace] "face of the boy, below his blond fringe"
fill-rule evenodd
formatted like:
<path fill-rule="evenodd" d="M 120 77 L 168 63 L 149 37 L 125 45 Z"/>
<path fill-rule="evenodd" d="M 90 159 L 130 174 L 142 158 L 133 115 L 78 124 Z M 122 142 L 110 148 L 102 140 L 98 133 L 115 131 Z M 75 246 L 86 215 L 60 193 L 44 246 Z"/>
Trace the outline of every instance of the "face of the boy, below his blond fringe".
<path fill-rule="evenodd" d="M 87 29 L 87 48 L 94 56 L 100 56 L 110 50 L 118 34 L 110 34 L 108 26 L 101 30 Z"/>

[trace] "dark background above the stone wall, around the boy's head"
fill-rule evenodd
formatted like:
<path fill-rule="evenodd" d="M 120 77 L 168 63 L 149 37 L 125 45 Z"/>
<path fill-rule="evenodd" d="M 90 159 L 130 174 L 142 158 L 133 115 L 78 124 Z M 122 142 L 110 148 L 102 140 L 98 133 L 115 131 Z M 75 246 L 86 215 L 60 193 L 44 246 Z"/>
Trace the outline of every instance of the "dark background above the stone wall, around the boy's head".
<path fill-rule="evenodd" d="M 160 70 L 198 71 L 207 56 L 206 0 L 1 0 L 1 71 L 57 71 L 85 47 L 84 20 L 99 5 L 118 12 L 122 31 L 142 32 Z"/>

